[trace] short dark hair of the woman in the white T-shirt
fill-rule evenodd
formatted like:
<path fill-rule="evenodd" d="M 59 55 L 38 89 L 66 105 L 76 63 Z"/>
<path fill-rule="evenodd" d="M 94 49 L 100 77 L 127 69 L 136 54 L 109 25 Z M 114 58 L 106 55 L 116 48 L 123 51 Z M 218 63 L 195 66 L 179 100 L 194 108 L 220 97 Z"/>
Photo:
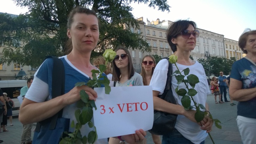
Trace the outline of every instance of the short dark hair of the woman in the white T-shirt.
<path fill-rule="evenodd" d="M 189 25 L 192 25 L 194 29 L 197 29 L 197 24 L 193 21 L 189 20 L 178 20 L 173 22 L 169 28 L 167 29 L 166 36 L 167 36 L 167 41 L 169 45 L 171 46 L 172 52 L 175 52 L 177 50 L 176 44 L 172 43 L 173 38 L 177 38 L 178 35 L 181 34 L 185 29 L 188 28 Z"/>

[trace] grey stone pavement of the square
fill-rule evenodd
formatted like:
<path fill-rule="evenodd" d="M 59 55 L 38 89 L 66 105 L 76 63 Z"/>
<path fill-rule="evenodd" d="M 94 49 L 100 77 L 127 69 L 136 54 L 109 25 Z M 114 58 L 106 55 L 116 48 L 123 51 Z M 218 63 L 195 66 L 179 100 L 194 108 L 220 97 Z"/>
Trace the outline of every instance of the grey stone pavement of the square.
<path fill-rule="evenodd" d="M 239 134 L 237 123 L 236 123 L 236 106 L 230 106 L 229 102 L 224 104 L 215 104 L 214 95 L 207 95 L 207 102 L 209 104 L 209 111 L 211 112 L 214 119 L 219 119 L 221 121 L 222 129 L 218 129 L 213 126 L 211 135 L 215 141 L 215 144 L 242 144 L 241 136 Z M 237 104 L 236 101 L 234 101 Z M 13 117 L 13 125 L 10 126 L 8 120 L 8 132 L 0 133 L 0 140 L 4 140 L 1 144 L 20 144 L 20 136 L 23 129 L 23 125 L 19 122 L 18 117 Z M 35 128 L 33 126 L 32 130 Z M 32 137 L 33 137 L 32 132 Z M 147 132 L 147 144 L 154 144 L 151 134 Z M 209 136 L 205 140 L 205 144 L 212 144 Z"/>

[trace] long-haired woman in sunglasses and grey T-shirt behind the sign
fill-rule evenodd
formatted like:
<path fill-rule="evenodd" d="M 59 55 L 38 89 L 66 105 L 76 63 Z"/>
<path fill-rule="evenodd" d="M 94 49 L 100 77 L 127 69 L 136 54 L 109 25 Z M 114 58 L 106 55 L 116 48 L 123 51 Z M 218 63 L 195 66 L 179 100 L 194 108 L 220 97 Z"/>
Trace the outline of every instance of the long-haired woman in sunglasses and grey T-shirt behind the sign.
<path fill-rule="evenodd" d="M 112 61 L 114 86 L 141 86 L 143 85 L 142 76 L 136 73 L 133 67 L 130 52 L 123 46 L 117 46 L 116 56 Z M 146 140 L 139 141 L 146 143 Z M 109 144 L 120 144 L 120 139 L 110 137 Z"/>

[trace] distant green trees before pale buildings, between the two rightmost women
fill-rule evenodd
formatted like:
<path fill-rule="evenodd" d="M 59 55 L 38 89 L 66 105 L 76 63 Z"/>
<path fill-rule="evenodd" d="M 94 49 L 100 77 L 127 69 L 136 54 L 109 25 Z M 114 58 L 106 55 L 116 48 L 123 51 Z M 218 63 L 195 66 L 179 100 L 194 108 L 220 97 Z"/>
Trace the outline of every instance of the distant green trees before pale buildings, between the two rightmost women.
<path fill-rule="evenodd" d="M 236 61 L 235 57 L 231 57 L 230 59 L 224 57 L 216 57 L 211 56 L 208 58 L 199 58 L 198 62 L 203 65 L 206 75 L 209 76 L 214 74 L 215 76 L 219 76 L 219 72 L 223 71 L 224 75 L 228 75 L 231 71 L 232 64 Z"/>

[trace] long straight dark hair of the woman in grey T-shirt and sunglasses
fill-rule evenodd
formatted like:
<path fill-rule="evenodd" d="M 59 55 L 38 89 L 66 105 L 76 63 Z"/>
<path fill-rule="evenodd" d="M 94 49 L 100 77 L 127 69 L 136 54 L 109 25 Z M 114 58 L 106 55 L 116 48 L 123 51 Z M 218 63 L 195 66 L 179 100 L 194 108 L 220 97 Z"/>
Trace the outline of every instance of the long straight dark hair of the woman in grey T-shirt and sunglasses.
<path fill-rule="evenodd" d="M 128 55 L 127 56 L 127 58 L 129 58 L 128 79 L 130 79 L 134 75 L 134 73 L 135 73 L 135 70 L 134 70 L 134 67 L 133 67 L 132 58 L 131 58 L 131 54 L 128 51 L 128 49 L 126 49 L 124 46 L 120 46 L 120 45 L 117 46 L 117 49 L 115 50 L 115 52 L 117 52 L 120 49 L 123 49 L 126 52 L 126 54 Z M 112 77 L 112 80 L 113 81 L 119 81 L 120 80 L 121 72 L 120 72 L 120 69 L 115 64 L 115 60 L 112 61 L 112 66 L 113 66 L 113 77 Z"/>

